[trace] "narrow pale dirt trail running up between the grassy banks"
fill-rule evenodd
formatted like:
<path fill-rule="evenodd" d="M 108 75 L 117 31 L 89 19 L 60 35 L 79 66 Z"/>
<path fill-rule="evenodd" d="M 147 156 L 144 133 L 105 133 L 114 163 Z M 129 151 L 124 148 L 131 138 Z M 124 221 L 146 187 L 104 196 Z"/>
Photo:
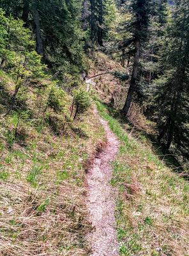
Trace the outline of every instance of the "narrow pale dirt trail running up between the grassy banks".
<path fill-rule="evenodd" d="M 100 122 L 107 134 L 107 145 L 94 159 L 94 164 L 86 175 L 87 209 L 89 220 L 93 225 L 87 240 L 92 249 L 90 256 L 118 256 L 115 220 L 116 191 L 110 185 L 112 178 L 110 162 L 116 156 L 119 141 L 110 131 L 107 122 L 102 118 Z"/>

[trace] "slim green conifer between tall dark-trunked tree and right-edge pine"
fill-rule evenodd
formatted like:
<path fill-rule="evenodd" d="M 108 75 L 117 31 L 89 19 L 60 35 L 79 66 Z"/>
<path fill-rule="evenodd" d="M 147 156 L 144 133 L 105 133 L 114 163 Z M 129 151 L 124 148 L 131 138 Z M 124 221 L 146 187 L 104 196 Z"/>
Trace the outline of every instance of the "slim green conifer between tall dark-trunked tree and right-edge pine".
<path fill-rule="evenodd" d="M 166 28 L 170 17 L 167 0 L 153 1 L 149 14 L 148 40 L 140 54 L 140 104 L 147 117 L 153 114 L 153 80 L 162 75 L 160 58 L 165 45 Z"/>

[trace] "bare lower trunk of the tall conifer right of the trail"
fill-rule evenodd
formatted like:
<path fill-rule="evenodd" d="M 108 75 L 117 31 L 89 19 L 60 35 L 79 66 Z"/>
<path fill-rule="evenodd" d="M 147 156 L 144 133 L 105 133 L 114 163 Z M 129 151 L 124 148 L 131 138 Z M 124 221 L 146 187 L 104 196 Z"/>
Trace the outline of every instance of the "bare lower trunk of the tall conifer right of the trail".
<path fill-rule="evenodd" d="M 140 58 L 140 41 L 137 40 L 135 42 L 135 56 L 134 56 L 134 63 L 133 63 L 132 78 L 130 81 L 130 88 L 128 90 L 125 106 L 123 107 L 123 113 L 125 113 L 125 115 L 128 114 L 128 111 L 130 109 L 130 106 L 133 100 L 133 94 L 136 91 L 137 77 L 139 72 L 139 58 Z"/>

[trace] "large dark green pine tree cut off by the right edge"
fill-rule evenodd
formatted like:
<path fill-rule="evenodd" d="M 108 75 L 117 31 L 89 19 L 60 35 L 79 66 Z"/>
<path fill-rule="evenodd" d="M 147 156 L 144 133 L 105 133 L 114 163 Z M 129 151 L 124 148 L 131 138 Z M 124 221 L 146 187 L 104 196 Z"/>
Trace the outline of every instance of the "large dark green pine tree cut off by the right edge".
<path fill-rule="evenodd" d="M 156 94 L 160 109 L 158 140 L 163 140 L 167 148 L 172 144 L 176 151 L 188 157 L 189 6 L 186 1 L 177 1 L 162 55 L 164 75 L 157 81 Z"/>

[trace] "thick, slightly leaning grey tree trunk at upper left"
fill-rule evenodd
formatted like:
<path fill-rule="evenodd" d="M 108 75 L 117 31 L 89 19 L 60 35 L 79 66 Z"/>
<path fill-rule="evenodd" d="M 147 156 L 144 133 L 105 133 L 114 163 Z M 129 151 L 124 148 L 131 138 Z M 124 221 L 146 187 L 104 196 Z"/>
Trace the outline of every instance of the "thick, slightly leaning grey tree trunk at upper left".
<path fill-rule="evenodd" d="M 35 33 L 36 33 L 36 52 L 43 56 L 43 41 L 42 41 L 42 32 L 41 32 L 41 24 L 40 24 L 40 15 L 38 12 L 36 0 L 32 1 L 31 12 L 33 14 L 33 21 L 35 25 Z"/>

